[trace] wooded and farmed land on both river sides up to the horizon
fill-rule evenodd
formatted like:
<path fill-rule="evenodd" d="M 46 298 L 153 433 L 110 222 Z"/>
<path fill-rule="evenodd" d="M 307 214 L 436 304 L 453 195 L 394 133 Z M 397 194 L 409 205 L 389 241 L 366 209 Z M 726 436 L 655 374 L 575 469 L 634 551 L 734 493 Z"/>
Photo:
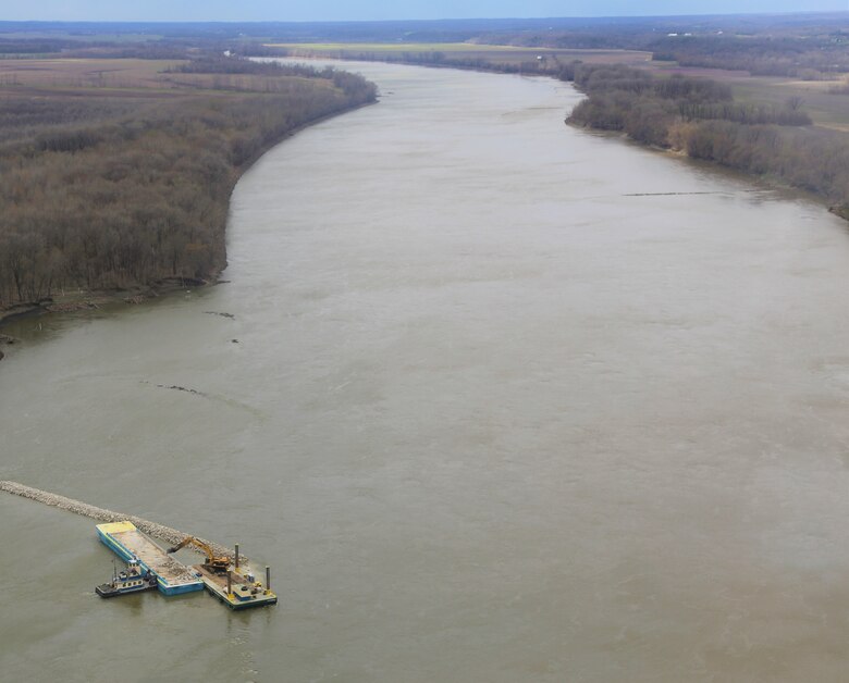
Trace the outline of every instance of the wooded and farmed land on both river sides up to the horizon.
<path fill-rule="evenodd" d="M 214 278 L 226 263 L 224 225 L 238 175 L 298 126 L 377 96 L 344 71 L 236 55 L 308 54 L 311 45 L 339 41 L 349 59 L 575 82 L 587 99 L 569 123 L 815 193 L 849 219 L 847 12 L 0 22 L 0 318 L 16 303 L 72 290 Z M 376 42 L 391 49 L 371 51 Z M 688 67 L 736 71 L 717 82 Z M 750 73 L 797 85 L 745 80 Z"/>

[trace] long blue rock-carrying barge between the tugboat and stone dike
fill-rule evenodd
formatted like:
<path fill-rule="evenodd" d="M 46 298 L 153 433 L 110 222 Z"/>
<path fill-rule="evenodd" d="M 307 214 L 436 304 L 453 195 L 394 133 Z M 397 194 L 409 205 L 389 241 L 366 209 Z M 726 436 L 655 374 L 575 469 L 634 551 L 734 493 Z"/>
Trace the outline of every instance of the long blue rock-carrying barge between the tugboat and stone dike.
<path fill-rule="evenodd" d="M 181 595 L 204 589 L 204 582 L 138 531 L 132 522 L 110 522 L 97 525 L 100 542 L 125 561 L 137 560 L 145 572 L 157 580 L 159 592 Z"/>

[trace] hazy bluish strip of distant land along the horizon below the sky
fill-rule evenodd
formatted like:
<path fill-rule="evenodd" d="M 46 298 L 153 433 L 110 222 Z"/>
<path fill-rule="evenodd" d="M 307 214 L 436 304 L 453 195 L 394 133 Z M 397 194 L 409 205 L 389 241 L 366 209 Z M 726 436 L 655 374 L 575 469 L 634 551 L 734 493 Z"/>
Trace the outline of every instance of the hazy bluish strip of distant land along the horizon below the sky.
<path fill-rule="evenodd" d="M 269 42 L 465 42 L 645 50 L 686 66 L 800 78 L 849 73 L 849 14 L 295 23 L 0 22 L 2 55 L 183 58 Z"/>

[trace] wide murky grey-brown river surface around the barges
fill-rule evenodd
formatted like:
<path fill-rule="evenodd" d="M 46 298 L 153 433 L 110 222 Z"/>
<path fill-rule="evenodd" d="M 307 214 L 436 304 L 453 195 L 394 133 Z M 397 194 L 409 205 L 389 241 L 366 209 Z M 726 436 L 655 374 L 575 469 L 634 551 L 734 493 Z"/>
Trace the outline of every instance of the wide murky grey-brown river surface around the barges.
<path fill-rule="evenodd" d="M 379 104 L 238 183 L 229 283 L 0 364 L 0 479 L 241 543 L 280 605 L 100 600 L 95 522 L 0 495 L 2 679 L 847 680 L 846 224 L 566 84 L 356 67 Z"/>

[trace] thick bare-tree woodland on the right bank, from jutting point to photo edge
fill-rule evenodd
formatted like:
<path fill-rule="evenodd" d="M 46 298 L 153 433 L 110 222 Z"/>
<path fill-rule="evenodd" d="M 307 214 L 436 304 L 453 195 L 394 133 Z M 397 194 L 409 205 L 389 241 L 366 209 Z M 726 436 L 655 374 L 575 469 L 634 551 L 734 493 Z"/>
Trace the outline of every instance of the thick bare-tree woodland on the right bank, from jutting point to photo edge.
<path fill-rule="evenodd" d="M 808 126 L 798 98 L 778 108 L 743 105 L 712 80 L 661 79 L 622 65 L 576 65 L 573 77 L 588 98 L 570 123 L 622 131 L 647 145 L 815 193 L 849 219 L 849 140 Z"/>

